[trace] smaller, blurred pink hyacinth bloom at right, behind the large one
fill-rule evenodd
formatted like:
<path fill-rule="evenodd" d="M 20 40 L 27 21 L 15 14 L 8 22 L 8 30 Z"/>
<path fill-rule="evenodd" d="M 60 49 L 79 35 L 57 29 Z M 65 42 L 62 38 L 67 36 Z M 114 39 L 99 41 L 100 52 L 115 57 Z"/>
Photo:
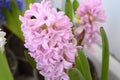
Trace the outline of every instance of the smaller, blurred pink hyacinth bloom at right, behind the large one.
<path fill-rule="evenodd" d="M 100 23 L 105 21 L 105 12 L 101 8 L 101 0 L 83 0 L 76 14 L 80 16 L 79 27 L 76 29 L 76 34 L 79 33 L 79 31 L 81 33 L 85 31 L 82 45 L 90 47 L 92 43 L 98 43 L 100 41 L 98 38 L 101 27 Z"/>

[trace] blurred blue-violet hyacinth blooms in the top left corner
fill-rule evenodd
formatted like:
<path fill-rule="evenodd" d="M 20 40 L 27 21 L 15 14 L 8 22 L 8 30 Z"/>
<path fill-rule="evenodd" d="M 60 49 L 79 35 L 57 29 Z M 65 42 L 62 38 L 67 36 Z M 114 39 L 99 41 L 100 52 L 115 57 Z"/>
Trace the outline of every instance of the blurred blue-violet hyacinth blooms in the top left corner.
<path fill-rule="evenodd" d="M 11 2 L 12 0 L 0 0 L 0 22 L 4 23 L 5 22 L 5 15 L 2 11 L 2 8 L 6 8 L 7 10 L 11 11 Z M 15 3 L 18 5 L 20 10 L 25 9 L 25 3 L 24 0 L 14 0 Z"/>

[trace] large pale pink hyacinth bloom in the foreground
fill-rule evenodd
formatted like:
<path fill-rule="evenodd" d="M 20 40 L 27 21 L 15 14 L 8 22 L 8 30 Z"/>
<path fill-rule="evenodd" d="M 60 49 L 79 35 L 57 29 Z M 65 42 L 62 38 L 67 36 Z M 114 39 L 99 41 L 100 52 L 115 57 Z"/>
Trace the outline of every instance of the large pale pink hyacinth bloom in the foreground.
<path fill-rule="evenodd" d="M 20 16 L 25 47 L 36 61 L 45 80 L 69 80 L 65 70 L 73 67 L 77 56 L 72 23 L 64 12 L 51 8 L 51 2 L 30 4 Z"/>

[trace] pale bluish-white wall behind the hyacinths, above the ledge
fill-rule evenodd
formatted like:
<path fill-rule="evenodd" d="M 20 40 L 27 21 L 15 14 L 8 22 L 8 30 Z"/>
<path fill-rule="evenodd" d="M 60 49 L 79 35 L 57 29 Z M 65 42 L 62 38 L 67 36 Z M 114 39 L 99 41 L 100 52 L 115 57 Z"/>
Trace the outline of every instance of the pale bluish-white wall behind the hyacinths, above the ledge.
<path fill-rule="evenodd" d="M 52 2 L 54 7 L 64 10 L 65 0 L 52 0 Z M 104 28 L 108 35 L 110 52 L 120 61 L 120 1 L 102 0 L 102 6 L 107 17 Z"/>

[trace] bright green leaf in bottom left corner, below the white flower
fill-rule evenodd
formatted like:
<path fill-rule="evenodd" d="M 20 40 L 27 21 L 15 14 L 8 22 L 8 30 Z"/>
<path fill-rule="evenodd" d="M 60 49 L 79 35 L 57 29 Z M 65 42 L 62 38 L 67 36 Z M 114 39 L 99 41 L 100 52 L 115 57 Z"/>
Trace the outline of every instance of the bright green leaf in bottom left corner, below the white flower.
<path fill-rule="evenodd" d="M 0 80 L 14 80 L 4 52 L 0 51 Z"/>

